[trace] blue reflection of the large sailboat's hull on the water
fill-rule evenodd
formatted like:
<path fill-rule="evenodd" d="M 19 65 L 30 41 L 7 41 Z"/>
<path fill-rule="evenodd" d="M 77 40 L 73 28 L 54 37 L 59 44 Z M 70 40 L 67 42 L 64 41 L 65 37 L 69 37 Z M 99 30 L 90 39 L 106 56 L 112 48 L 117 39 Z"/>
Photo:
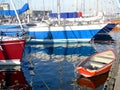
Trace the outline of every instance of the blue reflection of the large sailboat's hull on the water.
<path fill-rule="evenodd" d="M 26 49 L 28 53 L 36 53 L 43 51 L 48 55 L 71 55 L 71 54 L 79 54 L 88 56 L 93 54 L 95 49 L 91 46 L 91 44 L 41 44 L 41 45 L 30 45 L 27 46 Z M 32 50 L 32 51 L 31 51 Z M 86 52 L 83 52 L 86 51 Z"/>

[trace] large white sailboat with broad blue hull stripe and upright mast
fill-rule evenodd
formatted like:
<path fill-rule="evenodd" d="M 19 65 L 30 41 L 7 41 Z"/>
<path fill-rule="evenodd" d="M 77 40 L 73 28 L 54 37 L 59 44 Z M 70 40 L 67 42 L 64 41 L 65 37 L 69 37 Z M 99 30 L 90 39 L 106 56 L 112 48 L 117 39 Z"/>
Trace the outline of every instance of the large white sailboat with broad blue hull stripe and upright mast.
<path fill-rule="evenodd" d="M 56 20 L 50 19 L 48 20 L 50 23 L 45 24 L 44 21 L 44 25 L 39 23 L 37 26 L 27 27 L 25 31 L 32 37 L 30 41 L 43 43 L 89 42 L 95 38 L 96 34 L 108 34 L 117 25 L 112 22 L 100 22 L 103 17 L 101 13 L 90 18 L 78 18 L 77 12 L 62 13 L 60 12 L 60 0 L 57 0 L 57 9 L 58 13 L 52 13 L 57 15 Z M 69 21 L 74 18 L 78 18 L 78 20 L 76 22 Z"/>

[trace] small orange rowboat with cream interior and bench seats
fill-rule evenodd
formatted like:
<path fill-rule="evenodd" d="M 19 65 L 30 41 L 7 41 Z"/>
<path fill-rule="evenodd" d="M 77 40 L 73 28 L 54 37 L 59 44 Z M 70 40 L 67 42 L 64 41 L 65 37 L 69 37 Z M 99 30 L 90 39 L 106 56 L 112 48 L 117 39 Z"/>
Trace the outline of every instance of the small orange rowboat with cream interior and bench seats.
<path fill-rule="evenodd" d="M 97 76 L 109 71 L 115 59 L 116 55 L 112 49 L 105 50 L 89 56 L 80 62 L 76 69 L 84 77 Z"/>

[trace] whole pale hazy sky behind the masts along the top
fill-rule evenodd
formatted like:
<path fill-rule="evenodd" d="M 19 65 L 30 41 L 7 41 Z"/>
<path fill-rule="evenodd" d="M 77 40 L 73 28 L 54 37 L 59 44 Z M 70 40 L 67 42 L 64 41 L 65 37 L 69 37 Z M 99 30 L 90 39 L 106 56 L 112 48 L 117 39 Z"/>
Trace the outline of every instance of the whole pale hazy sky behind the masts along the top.
<path fill-rule="evenodd" d="M 10 0 L 0 1 L 10 2 Z M 120 0 L 60 0 L 60 4 L 61 12 L 82 11 L 83 13 L 93 13 L 96 11 L 104 11 L 106 13 L 112 13 L 120 9 L 119 1 Z M 24 3 L 28 2 L 31 10 L 52 10 L 52 12 L 57 12 L 57 0 L 13 0 L 13 2 L 17 8 L 20 8 Z"/>

